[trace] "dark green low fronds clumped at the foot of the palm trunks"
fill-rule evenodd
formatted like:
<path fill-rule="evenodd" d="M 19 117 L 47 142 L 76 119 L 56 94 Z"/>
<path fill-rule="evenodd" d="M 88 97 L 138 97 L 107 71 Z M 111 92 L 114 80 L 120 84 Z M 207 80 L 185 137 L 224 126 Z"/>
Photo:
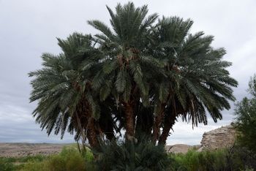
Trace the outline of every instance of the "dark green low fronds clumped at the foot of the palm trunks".
<path fill-rule="evenodd" d="M 166 170 L 170 160 L 164 146 L 148 140 L 109 142 L 94 151 L 99 170 Z"/>

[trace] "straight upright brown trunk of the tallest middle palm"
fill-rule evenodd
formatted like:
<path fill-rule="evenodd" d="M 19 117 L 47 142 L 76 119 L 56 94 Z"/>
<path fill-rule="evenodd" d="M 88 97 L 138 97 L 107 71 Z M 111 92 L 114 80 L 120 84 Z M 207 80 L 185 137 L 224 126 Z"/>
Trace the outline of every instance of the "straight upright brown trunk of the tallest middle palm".
<path fill-rule="evenodd" d="M 125 118 L 126 118 L 126 138 L 127 140 L 133 140 L 134 139 L 134 129 L 135 129 L 135 123 L 134 123 L 134 111 L 133 111 L 133 105 L 132 102 L 124 102 L 124 112 L 125 112 Z"/>

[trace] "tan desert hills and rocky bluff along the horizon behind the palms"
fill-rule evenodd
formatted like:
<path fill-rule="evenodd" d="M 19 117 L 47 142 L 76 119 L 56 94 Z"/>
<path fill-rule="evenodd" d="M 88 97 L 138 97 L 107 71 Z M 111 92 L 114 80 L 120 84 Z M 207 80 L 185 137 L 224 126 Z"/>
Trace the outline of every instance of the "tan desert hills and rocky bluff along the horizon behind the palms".
<path fill-rule="evenodd" d="M 206 149 L 224 148 L 233 145 L 236 138 L 236 130 L 232 125 L 222 126 L 218 129 L 205 132 L 201 145 L 166 145 L 168 153 L 187 153 L 189 149 L 194 148 L 197 151 Z M 0 156 L 34 156 L 37 154 L 50 155 L 59 153 L 61 148 L 71 144 L 51 144 L 51 143 L 5 143 L 0 142 Z"/>

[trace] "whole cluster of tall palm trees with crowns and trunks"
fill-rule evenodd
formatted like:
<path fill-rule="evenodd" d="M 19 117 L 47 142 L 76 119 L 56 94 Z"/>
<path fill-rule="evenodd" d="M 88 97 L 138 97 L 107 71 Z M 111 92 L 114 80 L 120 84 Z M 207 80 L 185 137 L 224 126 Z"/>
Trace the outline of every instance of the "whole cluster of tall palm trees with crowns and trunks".
<path fill-rule="evenodd" d="M 58 39 L 62 53 L 42 54 L 42 69 L 30 72 L 34 117 L 48 134 L 67 131 L 97 147 L 102 140 L 165 144 L 178 117 L 197 126 L 216 122 L 235 100 L 213 37 L 190 34 L 192 20 L 147 15 L 132 2 L 108 8 L 110 25 L 90 20 L 99 34 Z"/>

